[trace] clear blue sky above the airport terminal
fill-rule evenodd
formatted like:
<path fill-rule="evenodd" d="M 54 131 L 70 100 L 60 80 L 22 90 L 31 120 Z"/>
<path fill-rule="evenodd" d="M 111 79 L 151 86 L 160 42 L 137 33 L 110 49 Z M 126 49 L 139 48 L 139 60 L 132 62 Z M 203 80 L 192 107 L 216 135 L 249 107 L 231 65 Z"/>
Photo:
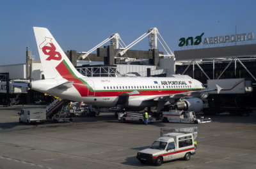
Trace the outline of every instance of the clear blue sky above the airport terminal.
<path fill-rule="evenodd" d="M 26 47 L 38 57 L 33 26 L 47 27 L 66 52 L 88 51 L 120 34 L 128 45 L 157 27 L 172 51 L 179 39 L 256 32 L 256 1 L 1 1 L 0 65 L 26 62 Z M 256 35 L 255 35 L 256 36 Z M 148 39 L 132 49 L 148 50 Z M 161 49 L 160 49 L 161 50 Z"/>

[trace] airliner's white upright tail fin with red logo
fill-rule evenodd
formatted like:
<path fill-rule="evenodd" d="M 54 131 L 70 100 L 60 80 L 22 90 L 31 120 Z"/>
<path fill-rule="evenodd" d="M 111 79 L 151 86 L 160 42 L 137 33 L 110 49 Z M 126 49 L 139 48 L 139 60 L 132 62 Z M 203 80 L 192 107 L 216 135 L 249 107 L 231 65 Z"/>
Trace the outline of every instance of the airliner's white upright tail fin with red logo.
<path fill-rule="evenodd" d="M 33 27 L 45 79 L 83 77 L 45 27 Z"/>

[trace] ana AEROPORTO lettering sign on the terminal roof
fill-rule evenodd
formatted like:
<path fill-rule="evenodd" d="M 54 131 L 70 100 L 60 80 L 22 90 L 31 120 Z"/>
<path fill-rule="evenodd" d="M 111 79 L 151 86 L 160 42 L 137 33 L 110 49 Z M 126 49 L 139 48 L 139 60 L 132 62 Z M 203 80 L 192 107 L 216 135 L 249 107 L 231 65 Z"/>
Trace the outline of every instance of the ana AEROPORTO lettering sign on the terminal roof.
<path fill-rule="evenodd" d="M 183 47 L 184 45 L 199 45 L 202 42 L 202 33 L 200 36 L 195 37 L 195 43 L 193 37 L 188 38 L 180 38 L 179 47 Z M 226 36 L 215 36 L 204 38 L 204 45 L 212 45 L 217 43 L 227 43 L 227 42 L 235 42 L 235 41 L 248 41 L 253 40 L 253 33 L 243 33 L 243 34 L 232 34 Z M 199 42 L 199 43 L 198 43 Z"/>

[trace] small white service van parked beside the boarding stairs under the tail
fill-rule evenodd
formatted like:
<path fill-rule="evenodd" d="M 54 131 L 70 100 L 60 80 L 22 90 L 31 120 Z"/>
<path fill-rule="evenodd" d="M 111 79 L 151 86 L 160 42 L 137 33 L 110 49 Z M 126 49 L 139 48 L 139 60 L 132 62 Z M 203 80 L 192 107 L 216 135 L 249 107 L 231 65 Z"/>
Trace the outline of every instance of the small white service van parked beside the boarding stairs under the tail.
<path fill-rule="evenodd" d="M 44 122 L 46 120 L 45 108 L 23 108 L 19 112 L 19 122 Z"/>

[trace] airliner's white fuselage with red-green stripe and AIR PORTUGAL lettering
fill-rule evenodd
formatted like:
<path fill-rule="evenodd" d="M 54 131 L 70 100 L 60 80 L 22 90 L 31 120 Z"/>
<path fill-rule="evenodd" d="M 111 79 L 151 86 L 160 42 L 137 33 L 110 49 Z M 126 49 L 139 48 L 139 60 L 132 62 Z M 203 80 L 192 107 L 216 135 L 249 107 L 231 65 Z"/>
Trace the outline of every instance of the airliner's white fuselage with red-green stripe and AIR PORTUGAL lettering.
<path fill-rule="evenodd" d="M 66 81 L 73 82 L 72 86 L 67 87 L 67 89 L 63 89 L 63 87 L 52 89 L 52 86 L 63 84 Z M 118 105 L 118 99 L 120 101 L 122 96 L 129 97 L 129 101 L 123 104 L 132 107 L 148 107 L 154 103 L 145 100 L 154 96 L 204 89 L 202 83 L 193 78 L 173 77 L 66 77 L 60 80 L 37 80 L 31 84 L 35 91 L 47 92 L 47 94 L 72 101 L 83 101 L 99 107 Z"/>

